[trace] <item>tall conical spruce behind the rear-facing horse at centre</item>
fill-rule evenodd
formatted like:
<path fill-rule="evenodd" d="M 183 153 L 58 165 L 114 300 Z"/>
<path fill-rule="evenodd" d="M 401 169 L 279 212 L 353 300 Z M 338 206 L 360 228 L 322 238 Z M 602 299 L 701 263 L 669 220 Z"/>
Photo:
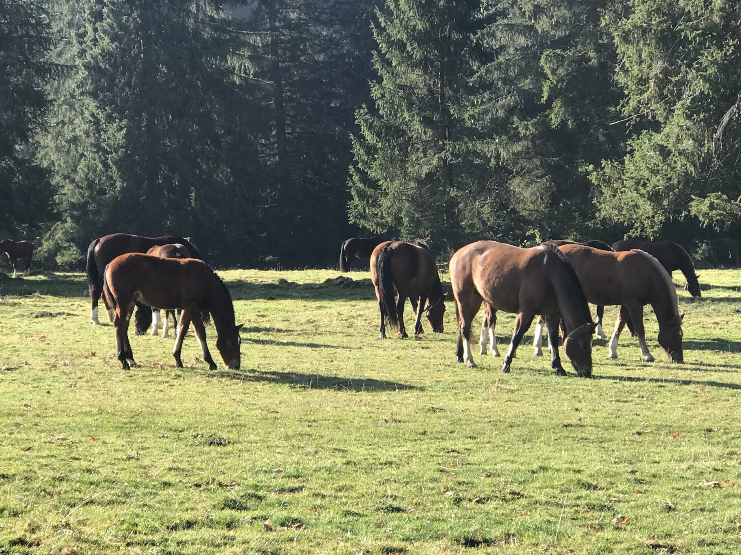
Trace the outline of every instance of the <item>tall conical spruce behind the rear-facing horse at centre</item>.
<path fill-rule="evenodd" d="M 506 213 L 491 209 L 496 174 L 471 149 L 479 137 L 468 121 L 473 36 L 488 19 L 479 0 L 388 0 L 376 15 L 379 78 L 375 106 L 356 114 L 350 220 L 452 250 Z"/>

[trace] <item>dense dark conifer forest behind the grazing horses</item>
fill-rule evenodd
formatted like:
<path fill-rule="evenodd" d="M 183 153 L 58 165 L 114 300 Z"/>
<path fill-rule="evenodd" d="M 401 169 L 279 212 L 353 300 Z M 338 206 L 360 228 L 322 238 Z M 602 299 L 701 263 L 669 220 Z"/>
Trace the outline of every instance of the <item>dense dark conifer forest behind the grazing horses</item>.
<path fill-rule="evenodd" d="M 741 3 L 0 0 L 0 238 L 218 266 L 353 235 L 671 238 L 739 265 Z"/>

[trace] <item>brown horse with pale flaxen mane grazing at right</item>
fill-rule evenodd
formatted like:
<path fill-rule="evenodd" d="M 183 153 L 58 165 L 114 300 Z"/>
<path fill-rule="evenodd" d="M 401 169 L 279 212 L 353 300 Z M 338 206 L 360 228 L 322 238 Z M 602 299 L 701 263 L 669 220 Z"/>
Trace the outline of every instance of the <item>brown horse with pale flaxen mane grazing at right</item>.
<path fill-rule="evenodd" d="M 643 360 L 654 361 L 645 343 L 643 328 L 643 306 L 650 304 L 659 322 L 659 345 L 666 351 L 671 362 L 681 363 L 684 360 L 684 314 L 679 315 L 674 284 L 656 258 L 637 249 L 608 252 L 588 246 L 563 245 L 559 246 L 559 250 L 566 255 L 571 266 L 574 266 L 590 303 L 620 306 L 609 344 L 608 358 L 617 358 L 617 342 L 630 317 Z"/>

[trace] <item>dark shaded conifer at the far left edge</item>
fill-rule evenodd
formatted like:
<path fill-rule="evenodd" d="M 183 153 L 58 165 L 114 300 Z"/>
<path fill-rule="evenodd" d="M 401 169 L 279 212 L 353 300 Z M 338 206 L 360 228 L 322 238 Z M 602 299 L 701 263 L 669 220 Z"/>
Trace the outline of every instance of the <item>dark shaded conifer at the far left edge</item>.
<path fill-rule="evenodd" d="M 44 82 L 55 67 L 42 1 L 0 0 L 0 234 L 34 235 L 51 216 L 53 191 L 34 161 L 33 136 L 47 111 Z"/>

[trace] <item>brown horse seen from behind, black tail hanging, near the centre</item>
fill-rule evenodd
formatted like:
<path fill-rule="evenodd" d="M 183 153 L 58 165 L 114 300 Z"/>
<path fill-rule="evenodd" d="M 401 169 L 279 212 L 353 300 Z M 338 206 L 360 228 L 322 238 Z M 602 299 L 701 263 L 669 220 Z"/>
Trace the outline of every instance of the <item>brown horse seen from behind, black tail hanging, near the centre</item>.
<path fill-rule="evenodd" d="M 425 243 L 380 243 L 371 254 L 371 281 L 376 289 L 381 313 L 380 339 L 386 338 L 387 320 L 391 326 L 399 326 L 402 337 L 408 337 L 404 326 L 404 305 L 407 298 L 416 312 L 414 334 L 423 333 L 422 312 L 427 314 L 432 331 L 442 333 L 445 294 L 442 292 L 435 258 Z M 399 294 L 398 300 L 394 292 Z"/>

